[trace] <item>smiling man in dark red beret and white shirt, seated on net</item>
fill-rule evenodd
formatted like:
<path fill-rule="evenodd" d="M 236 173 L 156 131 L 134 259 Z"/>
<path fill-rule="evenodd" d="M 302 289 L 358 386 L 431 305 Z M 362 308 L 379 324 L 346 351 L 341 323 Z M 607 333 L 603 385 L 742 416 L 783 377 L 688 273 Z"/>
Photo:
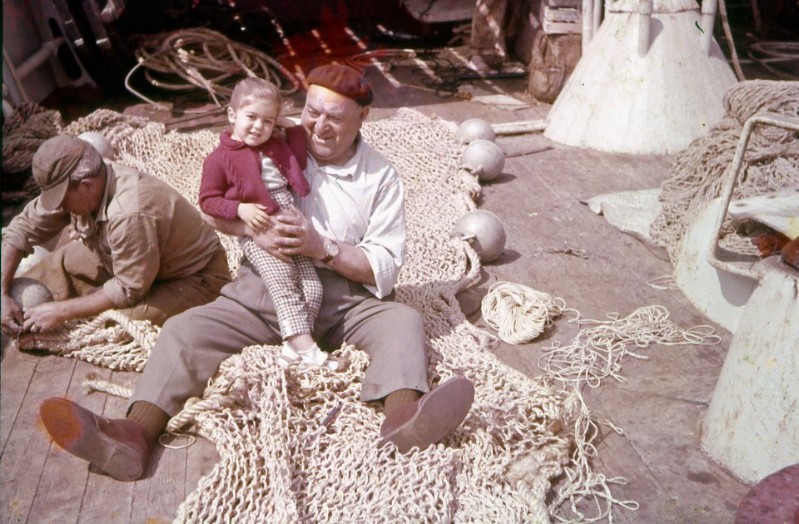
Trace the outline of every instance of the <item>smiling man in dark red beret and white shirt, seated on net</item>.
<path fill-rule="evenodd" d="M 277 257 L 315 261 L 324 296 L 314 339 L 327 349 L 346 340 L 369 354 L 361 399 L 382 401 L 386 414 L 376 445 L 394 445 L 402 453 L 424 449 L 461 424 L 474 387 L 456 377 L 430 389 L 422 316 L 393 300 L 405 256 L 404 191 L 394 166 L 360 134 L 371 87 L 360 72 L 342 65 L 314 69 L 307 81 L 300 125 L 311 191 L 299 211 L 274 215 L 275 225 L 258 234 L 241 222 L 208 220 L 225 233 L 253 237 Z M 67 451 L 114 478 L 134 480 L 144 473 L 168 419 L 186 399 L 202 395 L 222 361 L 246 346 L 279 343 L 271 297 L 245 260 L 217 300 L 164 324 L 125 419 L 48 399 L 42 421 Z"/>

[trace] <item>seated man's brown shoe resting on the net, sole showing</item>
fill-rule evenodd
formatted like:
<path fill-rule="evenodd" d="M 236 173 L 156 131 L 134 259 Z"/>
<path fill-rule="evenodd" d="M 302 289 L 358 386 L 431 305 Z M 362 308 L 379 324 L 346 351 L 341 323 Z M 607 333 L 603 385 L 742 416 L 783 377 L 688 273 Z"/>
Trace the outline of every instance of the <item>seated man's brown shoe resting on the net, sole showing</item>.
<path fill-rule="evenodd" d="M 389 414 L 380 427 L 380 445 L 393 442 L 400 453 L 425 449 L 455 431 L 473 401 L 474 385 L 465 377 L 451 378 Z"/>

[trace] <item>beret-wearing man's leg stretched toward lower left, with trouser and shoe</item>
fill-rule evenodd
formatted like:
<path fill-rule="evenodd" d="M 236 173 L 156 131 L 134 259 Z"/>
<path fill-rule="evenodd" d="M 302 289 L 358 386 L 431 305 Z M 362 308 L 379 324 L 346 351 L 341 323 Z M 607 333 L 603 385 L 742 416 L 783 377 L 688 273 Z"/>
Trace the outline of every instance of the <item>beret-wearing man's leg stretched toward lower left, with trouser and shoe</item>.
<path fill-rule="evenodd" d="M 106 419 L 66 399 L 43 402 L 40 414 L 53 440 L 114 478 L 140 478 L 169 418 L 187 398 L 202 394 L 223 360 L 243 347 L 279 341 L 259 282 L 254 273 L 242 271 L 223 289 L 227 296 L 164 324 L 126 419 Z"/>

